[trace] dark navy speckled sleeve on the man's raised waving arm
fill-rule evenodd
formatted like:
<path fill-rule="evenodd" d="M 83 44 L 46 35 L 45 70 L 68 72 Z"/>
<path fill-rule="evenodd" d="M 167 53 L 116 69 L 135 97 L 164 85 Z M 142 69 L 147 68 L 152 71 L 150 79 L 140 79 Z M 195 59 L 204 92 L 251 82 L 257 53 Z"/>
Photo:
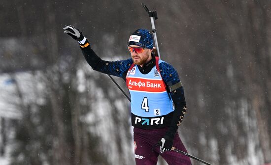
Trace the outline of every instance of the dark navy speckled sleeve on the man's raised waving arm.
<path fill-rule="evenodd" d="M 88 41 L 85 42 L 85 44 Z M 133 63 L 132 58 L 120 61 L 105 61 L 102 60 L 96 53 L 91 49 L 90 45 L 87 47 L 81 46 L 82 53 L 87 60 L 88 64 L 93 70 L 102 72 L 105 74 L 121 77 L 125 79 L 126 73 Z"/>

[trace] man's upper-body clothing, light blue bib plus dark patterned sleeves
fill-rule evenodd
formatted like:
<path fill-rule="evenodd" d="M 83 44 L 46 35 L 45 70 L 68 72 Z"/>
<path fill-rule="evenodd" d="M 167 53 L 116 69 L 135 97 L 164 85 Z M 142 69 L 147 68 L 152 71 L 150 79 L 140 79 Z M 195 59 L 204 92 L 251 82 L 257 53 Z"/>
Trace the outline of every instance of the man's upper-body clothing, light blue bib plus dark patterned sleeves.
<path fill-rule="evenodd" d="M 173 122 L 177 122 L 173 121 L 177 120 L 176 117 L 173 119 L 173 113 L 174 115 L 177 114 L 175 113 L 176 110 L 177 112 L 181 110 L 184 114 L 185 98 L 183 88 L 166 92 L 165 84 L 172 86 L 180 83 L 177 71 L 169 63 L 155 58 L 156 67 L 151 68 L 154 64 L 152 59 L 148 62 L 151 65 L 148 65 L 149 67 L 145 72 L 148 74 L 141 74 L 139 69 L 142 68 L 138 69 L 133 64 L 132 58 L 105 61 L 96 55 L 90 46 L 81 49 L 87 62 L 94 70 L 126 80 L 132 97 L 131 118 L 133 126 L 142 129 L 164 128 L 170 126 Z M 174 100 L 174 112 L 170 99 Z M 182 120 L 181 117 L 183 116 L 180 116 Z"/>

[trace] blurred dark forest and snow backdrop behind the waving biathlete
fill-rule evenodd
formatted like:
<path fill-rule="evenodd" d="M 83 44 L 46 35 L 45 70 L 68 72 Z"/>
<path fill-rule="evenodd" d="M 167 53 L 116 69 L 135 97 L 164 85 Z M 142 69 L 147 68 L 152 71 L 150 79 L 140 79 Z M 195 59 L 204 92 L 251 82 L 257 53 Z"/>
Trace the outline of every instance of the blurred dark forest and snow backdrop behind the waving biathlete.
<path fill-rule="evenodd" d="M 135 165 L 129 101 L 62 28 L 102 59 L 127 59 L 130 34 L 151 30 L 141 2 L 157 10 L 161 57 L 184 85 L 188 152 L 271 164 L 270 0 L 2 0 L 0 165 Z"/>

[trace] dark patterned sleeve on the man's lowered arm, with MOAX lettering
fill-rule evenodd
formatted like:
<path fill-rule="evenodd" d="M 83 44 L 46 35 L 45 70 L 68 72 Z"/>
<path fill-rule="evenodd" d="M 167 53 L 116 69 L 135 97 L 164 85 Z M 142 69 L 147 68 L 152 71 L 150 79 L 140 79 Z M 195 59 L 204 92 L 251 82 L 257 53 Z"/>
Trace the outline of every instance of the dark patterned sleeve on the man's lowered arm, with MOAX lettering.
<path fill-rule="evenodd" d="M 164 80 L 167 86 L 172 86 L 180 82 L 178 73 L 171 65 L 169 65 L 166 62 L 161 62 L 159 64 L 159 68 L 162 79 Z M 171 125 L 168 131 L 169 136 L 172 138 L 174 137 L 176 130 L 180 126 L 184 114 L 186 113 L 186 103 L 183 86 L 173 90 L 172 92 L 169 92 L 169 94 L 175 106 Z"/>

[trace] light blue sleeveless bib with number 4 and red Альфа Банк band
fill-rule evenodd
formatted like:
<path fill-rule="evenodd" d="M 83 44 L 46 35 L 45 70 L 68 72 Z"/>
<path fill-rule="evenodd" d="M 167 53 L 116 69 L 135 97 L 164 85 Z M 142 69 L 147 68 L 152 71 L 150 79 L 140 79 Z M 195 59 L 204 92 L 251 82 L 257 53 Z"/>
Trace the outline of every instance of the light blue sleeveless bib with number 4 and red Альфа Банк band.
<path fill-rule="evenodd" d="M 127 73 L 126 84 L 131 94 L 133 126 L 155 129 L 170 124 L 165 118 L 172 117 L 174 107 L 158 64 L 148 74 L 142 74 L 137 65 L 133 65 Z"/>

